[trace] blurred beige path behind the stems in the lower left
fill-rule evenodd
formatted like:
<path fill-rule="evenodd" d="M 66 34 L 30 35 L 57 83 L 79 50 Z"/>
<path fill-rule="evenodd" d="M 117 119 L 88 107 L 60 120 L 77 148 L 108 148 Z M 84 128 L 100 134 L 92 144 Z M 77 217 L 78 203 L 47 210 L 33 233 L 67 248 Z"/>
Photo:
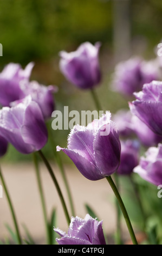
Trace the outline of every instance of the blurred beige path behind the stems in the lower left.
<path fill-rule="evenodd" d="M 65 189 L 59 170 L 53 165 L 57 180 L 65 195 Z M 20 225 L 21 233 L 24 235 L 21 226 L 24 223 L 37 243 L 45 242 L 45 228 L 43 222 L 40 196 L 37 189 L 35 170 L 32 163 L 2 164 L 2 172 L 10 192 L 15 212 Z M 70 184 L 75 202 L 76 215 L 84 218 L 86 215 L 85 203 L 93 208 L 100 220 L 103 220 L 103 228 L 107 234 L 115 230 L 115 212 L 113 204 L 113 193 L 106 179 L 90 181 L 82 176 L 74 166 L 66 166 L 66 174 Z M 50 176 L 41 164 L 41 178 L 46 198 L 48 216 L 53 208 L 57 209 L 57 227 L 67 230 L 66 218 L 64 217 L 60 199 Z M 1 181 L 0 181 L 1 184 Z M 9 206 L 3 193 L 0 198 L 0 240 L 8 236 L 5 223 L 12 225 Z"/>

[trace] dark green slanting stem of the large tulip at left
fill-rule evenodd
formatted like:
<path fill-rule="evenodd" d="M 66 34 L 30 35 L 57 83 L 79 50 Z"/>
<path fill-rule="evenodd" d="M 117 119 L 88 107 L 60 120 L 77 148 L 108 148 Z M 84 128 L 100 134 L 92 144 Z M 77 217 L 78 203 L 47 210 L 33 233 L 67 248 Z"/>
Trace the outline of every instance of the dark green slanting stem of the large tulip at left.
<path fill-rule="evenodd" d="M 51 178 L 53 179 L 54 181 L 54 184 L 56 186 L 56 190 L 59 194 L 59 197 L 60 197 L 60 200 L 61 200 L 61 203 L 62 203 L 62 207 L 63 207 L 63 210 L 64 210 L 64 214 L 66 216 L 66 219 L 67 219 L 67 222 L 68 222 L 68 225 L 70 224 L 70 217 L 69 217 L 69 214 L 68 214 L 68 210 L 67 210 L 67 206 L 66 206 L 66 203 L 64 201 L 64 198 L 63 198 L 63 195 L 62 195 L 62 192 L 61 192 L 61 189 L 60 189 L 60 186 L 56 180 L 56 177 L 54 175 L 54 172 L 53 172 L 53 169 L 51 168 L 48 160 L 46 159 L 46 157 L 44 156 L 44 154 L 42 153 L 41 150 L 38 151 L 38 153 L 40 154 L 41 156 L 41 159 L 43 160 L 44 164 L 46 165 L 47 169 L 48 169 L 48 172 L 51 176 Z"/>

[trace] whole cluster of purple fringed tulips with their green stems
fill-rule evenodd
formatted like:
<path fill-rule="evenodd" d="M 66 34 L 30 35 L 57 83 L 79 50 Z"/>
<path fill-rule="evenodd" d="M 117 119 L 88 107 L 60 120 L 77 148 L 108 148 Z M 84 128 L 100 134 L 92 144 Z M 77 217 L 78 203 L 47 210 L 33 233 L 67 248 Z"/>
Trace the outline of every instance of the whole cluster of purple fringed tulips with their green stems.
<path fill-rule="evenodd" d="M 99 43 L 92 45 L 85 42 L 74 52 L 60 52 L 62 74 L 80 90 L 89 90 L 92 93 L 98 111 L 102 110 L 95 92 L 95 87 L 100 84 L 101 80 L 99 50 Z M 132 243 L 138 244 L 127 209 L 122 196 L 120 196 L 117 180 L 120 175 L 132 176 L 133 173 L 138 173 L 135 175 L 139 175 L 139 178 L 144 179 L 146 183 L 150 182 L 155 186 L 162 184 L 160 58 L 157 57 L 146 62 L 139 57 L 133 57 L 116 65 L 111 88 L 125 95 L 126 99 L 130 97 L 128 109 L 120 109 L 115 114 L 108 109 L 99 119 L 93 120 L 87 126 L 76 124 L 69 133 L 67 148 L 53 145 L 56 161 L 66 183 L 71 214 L 69 214 L 67 202 L 64 200 L 55 173 L 41 150 L 48 139 L 51 140 L 51 143 L 53 142 L 49 133 L 53 132 L 54 136 L 54 131 L 47 129 L 47 120 L 50 120 L 51 113 L 56 109 L 54 93 L 57 88 L 30 81 L 33 66 L 34 63 L 31 62 L 25 69 L 22 69 L 21 65 L 10 63 L 0 74 L 0 104 L 2 106 L 0 110 L 0 156 L 7 153 L 9 143 L 22 154 L 34 154 L 44 221 L 47 227 L 47 243 L 52 243 L 50 241 L 51 232 L 59 234 L 56 241 L 60 245 L 106 245 L 107 243 L 105 234 L 103 234 L 102 221 L 90 216 L 89 213 L 85 219 L 75 216 L 72 195 L 66 176 L 64 176 L 60 154 L 57 152 L 62 150 L 85 178 L 92 181 L 107 179 L 118 202 L 118 214 L 122 212 Z M 134 101 L 132 101 L 132 96 L 136 98 Z M 145 156 L 140 156 L 141 147 L 146 149 Z M 49 227 L 37 168 L 37 154 L 46 164 L 59 193 L 69 225 L 68 233 L 56 227 Z M 0 177 L 9 200 L 17 242 L 22 244 L 23 239 L 2 170 L 0 170 Z M 139 184 L 136 185 L 139 186 Z M 139 194 L 138 196 L 142 209 L 144 206 L 142 206 Z M 143 231 L 147 242 L 150 242 L 145 224 Z M 122 242 L 122 237 L 118 237 L 118 243 Z"/>

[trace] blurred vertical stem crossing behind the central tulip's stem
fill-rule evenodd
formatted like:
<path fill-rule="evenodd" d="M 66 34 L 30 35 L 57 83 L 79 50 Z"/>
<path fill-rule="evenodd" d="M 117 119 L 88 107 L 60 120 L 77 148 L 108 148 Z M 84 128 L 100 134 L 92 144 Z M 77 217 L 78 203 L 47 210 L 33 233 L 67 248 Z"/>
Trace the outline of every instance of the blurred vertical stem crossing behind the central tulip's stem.
<path fill-rule="evenodd" d="M 116 184 L 116 188 L 119 191 L 119 177 L 116 173 L 114 173 L 114 178 L 115 178 L 115 184 Z M 118 200 L 115 200 L 116 203 L 116 243 L 118 245 L 122 244 L 122 239 L 121 239 L 121 225 L 120 225 L 120 221 L 121 221 L 121 211 L 120 211 L 120 206 L 118 204 Z"/>

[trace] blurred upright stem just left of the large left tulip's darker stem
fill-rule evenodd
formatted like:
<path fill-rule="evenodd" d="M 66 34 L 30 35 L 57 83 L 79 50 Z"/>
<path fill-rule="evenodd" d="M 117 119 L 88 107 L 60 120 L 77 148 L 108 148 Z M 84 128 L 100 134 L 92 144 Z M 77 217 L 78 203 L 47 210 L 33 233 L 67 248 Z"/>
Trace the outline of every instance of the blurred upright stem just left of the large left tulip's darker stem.
<path fill-rule="evenodd" d="M 50 244 L 50 234 L 49 234 L 48 218 L 47 218 L 47 211 L 46 211 L 46 203 L 45 203 L 45 200 L 44 200 L 43 188 L 42 188 L 42 182 L 41 182 L 41 176 L 40 176 L 40 170 L 39 170 L 39 167 L 38 167 L 38 160 L 37 160 L 36 153 L 33 153 L 33 161 L 34 161 L 35 170 L 36 170 L 36 178 L 37 178 L 38 190 L 40 192 L 40 197 L 41 197 L 41 204 L 42 204 L 42 210 L 43 210 L 44 223 L 45 223 L 45 226 L 46 226 L 47 244 L 49 245 Z"/>

